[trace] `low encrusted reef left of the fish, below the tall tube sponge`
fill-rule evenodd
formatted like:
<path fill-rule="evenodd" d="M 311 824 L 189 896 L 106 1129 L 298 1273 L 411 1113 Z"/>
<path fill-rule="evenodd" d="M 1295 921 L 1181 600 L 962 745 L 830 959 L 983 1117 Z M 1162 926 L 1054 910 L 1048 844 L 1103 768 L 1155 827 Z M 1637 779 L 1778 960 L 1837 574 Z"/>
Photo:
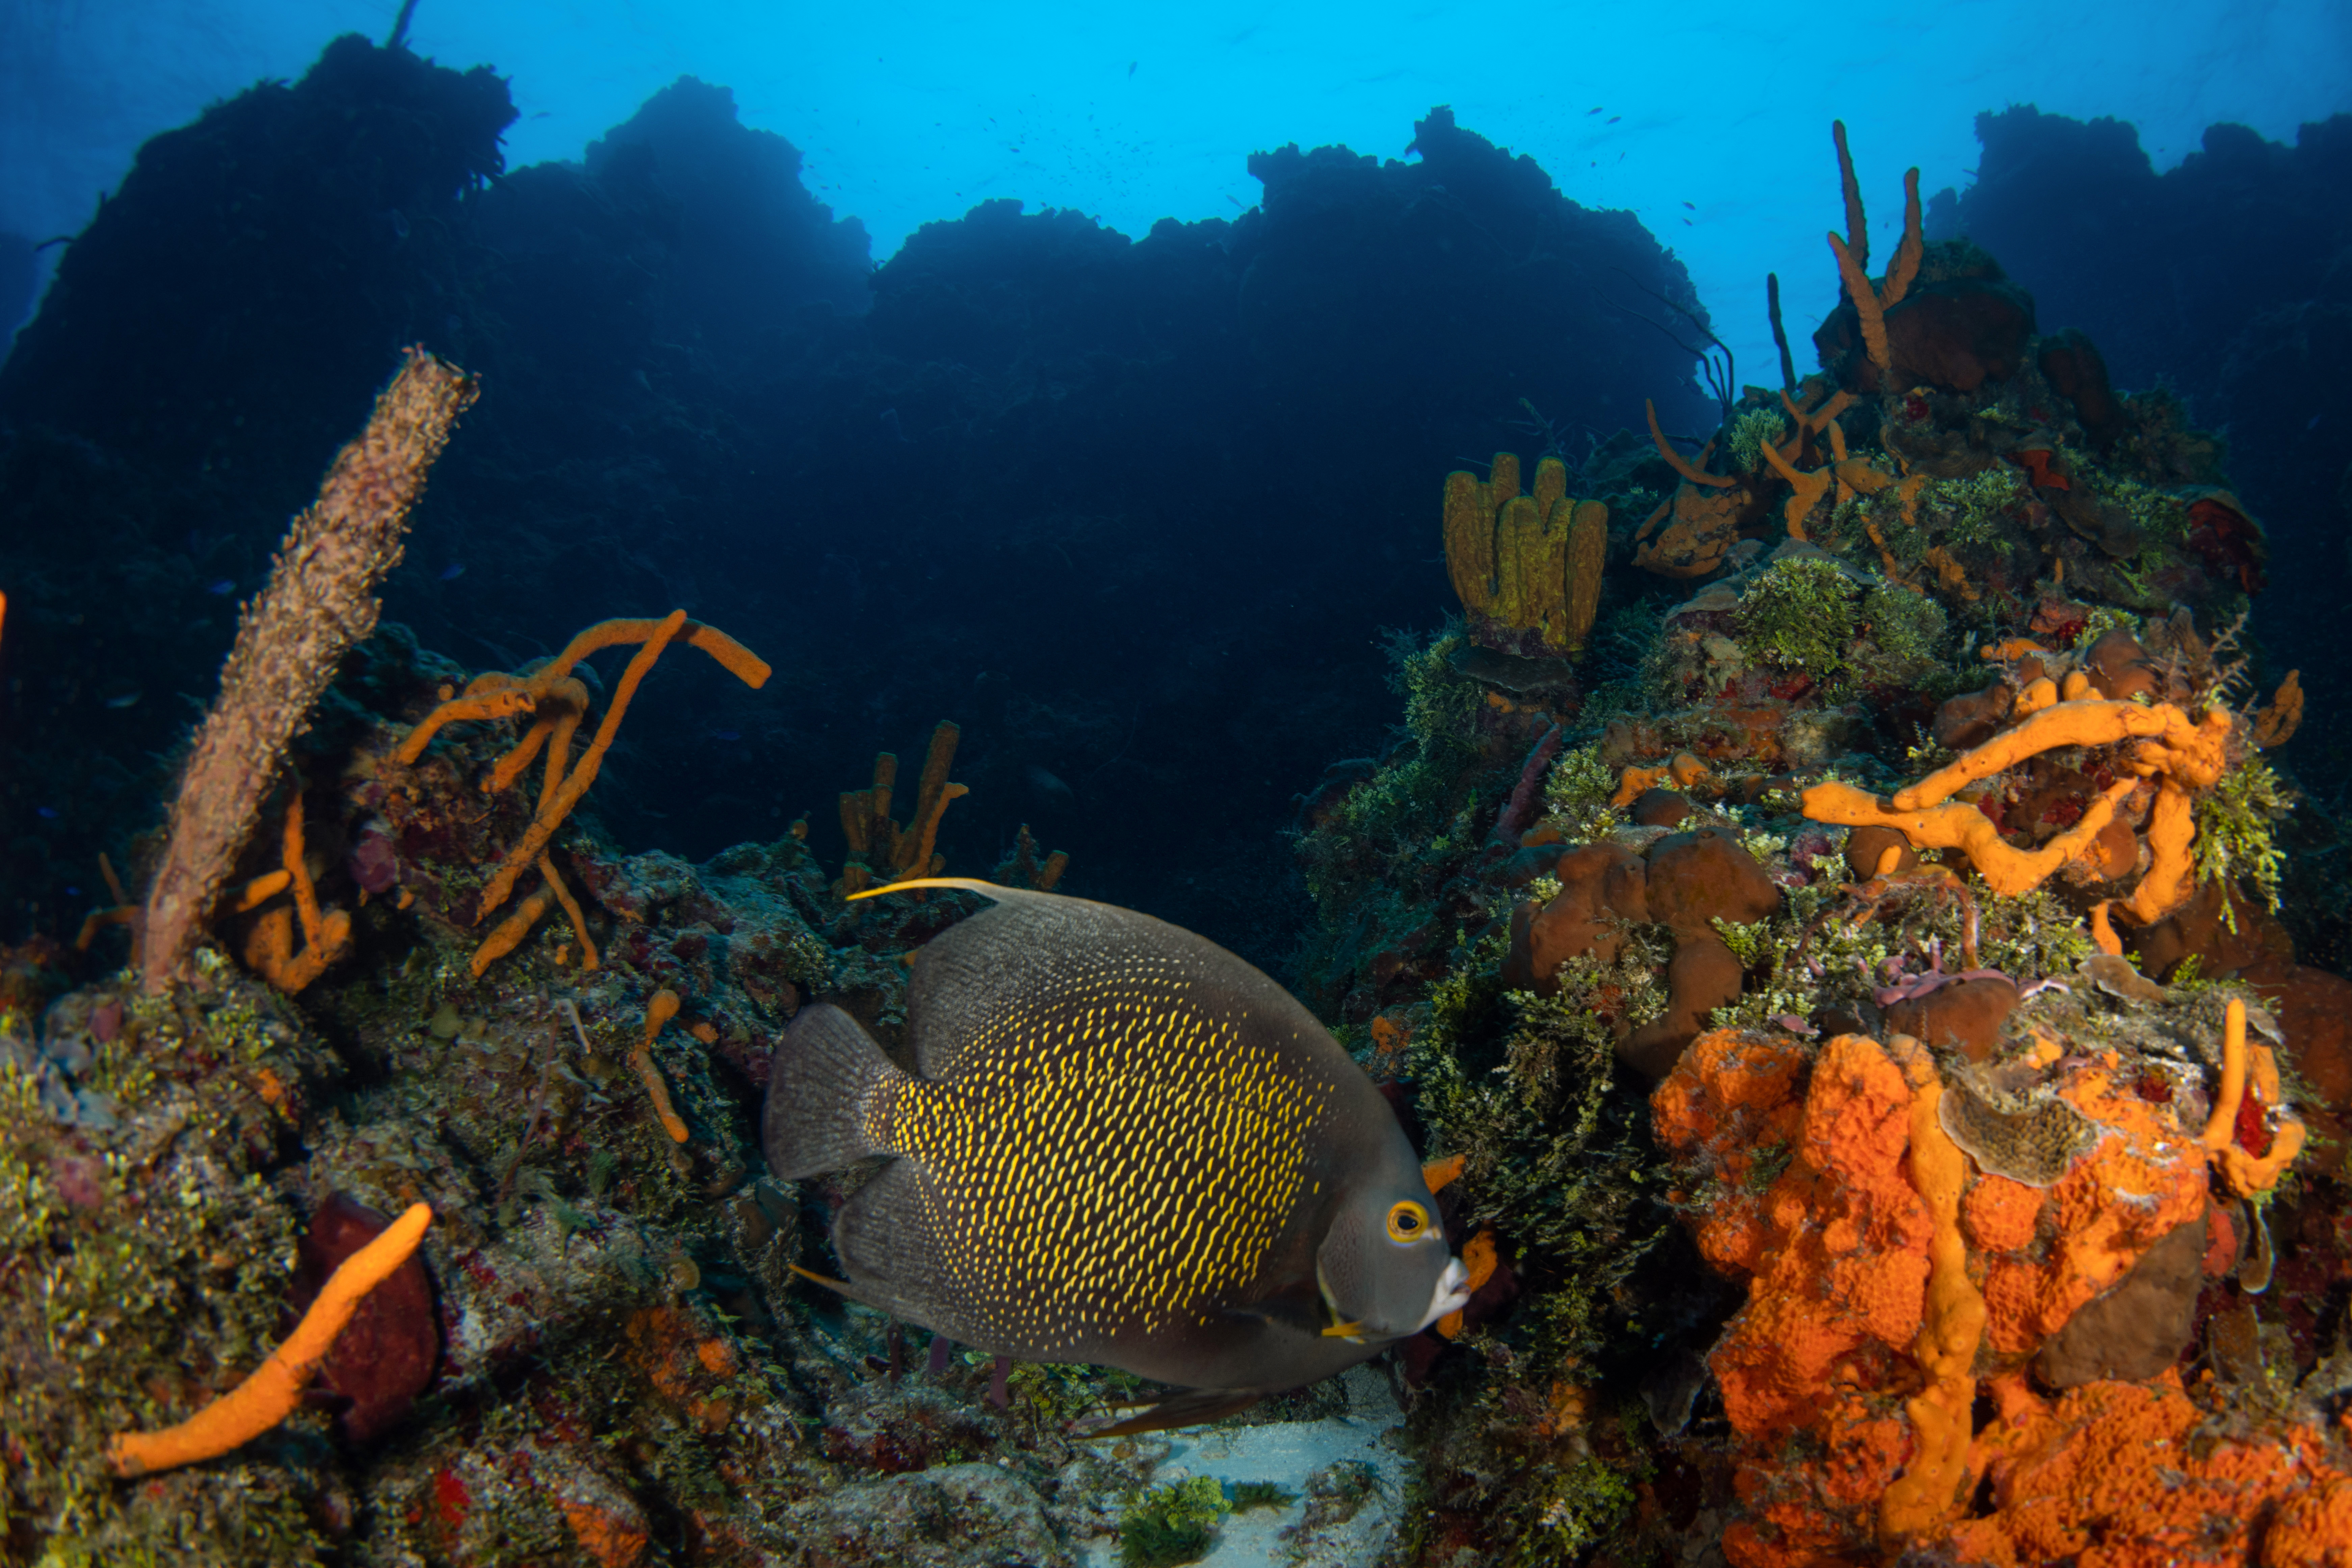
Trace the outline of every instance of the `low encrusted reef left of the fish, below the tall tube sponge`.
<path fill-rule="evenodd" d="M 894 1039 L 903 954 L 976 900 L 844 905 L 868 867 L 795 835 L 691 865 L 572 820 L 543 870 L 583 919 L 541 898 L 553 919 L 485 957 L 485 886 L 536 820 L 534 790 L 485 783 L 529 719 L 454 719 L 400 762 L 459 684 L 402 628 L 365 646 L 240 867 L 226 907 L 252 907 L 162 994 L 9 950 L 0 1561 L 1070 1563 L 1164 1514 L 1167 1439 L 1070 1436 L 1131 1380 L 1000 1368 L 790 1272 L 830 1267 L 840 1192 L 762 1171 L 774 1039 L 814 994 Z M 943 780 L 953 733 L 931 757 Z M 275 971 L 299 999 L 247 973 L 294 867 L 350 926 L 325 973 Z M 1054 872 L 1021 849 L 995 875 Z M 423 1269 L 367 1298 L 289 1420 L 111 1474 L 115 1434 L 238 1387 L 412 1204 Z M 1345 1408 L 1329 1387 L 1270 1415 Z M 1310 1544 L 1369 1490 L 1324 1469 Z"/>

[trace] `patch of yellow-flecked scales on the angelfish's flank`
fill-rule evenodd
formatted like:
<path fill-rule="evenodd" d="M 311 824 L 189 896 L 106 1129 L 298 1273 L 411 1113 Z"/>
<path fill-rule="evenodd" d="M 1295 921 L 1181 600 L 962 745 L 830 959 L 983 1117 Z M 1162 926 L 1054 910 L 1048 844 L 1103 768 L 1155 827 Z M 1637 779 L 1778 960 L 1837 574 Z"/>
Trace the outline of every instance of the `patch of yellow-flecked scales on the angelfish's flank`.
<path fill-rule="evenodd" d="M 931 1175 L 927 1222 L 981 1342 L 1075 1352 L 1209 1321 L 1310 1194 L 1334 1086 L 1181 992 L 1136 954 L 995 1018 L 950 1081 L 868 1103 L 875 1143 Z"/>

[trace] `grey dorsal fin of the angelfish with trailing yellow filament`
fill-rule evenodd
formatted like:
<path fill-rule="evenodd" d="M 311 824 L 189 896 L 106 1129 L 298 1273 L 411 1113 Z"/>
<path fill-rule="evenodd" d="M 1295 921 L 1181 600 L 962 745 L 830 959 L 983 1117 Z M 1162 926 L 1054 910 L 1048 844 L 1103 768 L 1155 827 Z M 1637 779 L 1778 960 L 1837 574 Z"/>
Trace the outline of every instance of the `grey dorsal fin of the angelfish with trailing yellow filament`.
<path fill-rule="evenodd" d="M 1143 1018 L 1223 1018 L 1282 1053 L 1317 1060 L 1327 1074 L 1345 1053 L 1287 990 L 1216 943 L 1136 910 L 1091 898 L 995 886 L 964 877 L 917 877 L 870 893 L 960 889 L 995 900 L 922 947 L 908 985 L 908 1044 L 917 1072 L 957 1077 L 974 1048 L 1007 1072 L 1061 1053 L 1098 1048 L 1077 1027 L 1087 1009 L 1122 997 Z M 861 893 L 861 896 L 870 896 Z M 1002 1032 L 1018 1051 L 990 1051 Z M 1202 1037 L 1202 1051 L 1221 1048 Z"/>

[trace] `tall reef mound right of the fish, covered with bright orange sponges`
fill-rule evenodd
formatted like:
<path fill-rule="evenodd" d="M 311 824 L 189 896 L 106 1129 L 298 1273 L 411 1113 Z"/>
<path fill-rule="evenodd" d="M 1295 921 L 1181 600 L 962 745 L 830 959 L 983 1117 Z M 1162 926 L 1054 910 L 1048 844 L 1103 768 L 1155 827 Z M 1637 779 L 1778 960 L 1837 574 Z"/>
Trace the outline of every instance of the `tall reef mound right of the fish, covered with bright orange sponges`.
<path fill-rule="evenodd" d="M 1303 823 L 1308 985 L 1482 1279 L 1402 1352 L 1406 1556 L 2345 1561 L 2352 983 L 2281 907 L 2265 531 L 1915 183 L 1872 275 L 1837 143 L 1823 369 L 1454 475 L 1465 618 Z"/>

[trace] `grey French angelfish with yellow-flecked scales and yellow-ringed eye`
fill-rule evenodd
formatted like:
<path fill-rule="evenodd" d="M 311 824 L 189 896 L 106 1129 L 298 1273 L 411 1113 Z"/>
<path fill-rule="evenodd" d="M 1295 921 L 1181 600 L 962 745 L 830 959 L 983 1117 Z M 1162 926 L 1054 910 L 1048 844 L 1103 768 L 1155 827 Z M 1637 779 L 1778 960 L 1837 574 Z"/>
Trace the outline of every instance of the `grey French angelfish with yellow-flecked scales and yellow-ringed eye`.
<path fill-rule="evenodd" d="M 833 1222 L 842 1295 L 1023 1361 L 1181 1394 L 1110 1432 L 1247 1408 L 1465 1300 L 1388 1100 L 1315 1016 L 1181 926 L 993 898 L 915 954 L 915 1072 L 835 1006 L 776 1046 L 779 1178 L 891 1157 Z"/>

